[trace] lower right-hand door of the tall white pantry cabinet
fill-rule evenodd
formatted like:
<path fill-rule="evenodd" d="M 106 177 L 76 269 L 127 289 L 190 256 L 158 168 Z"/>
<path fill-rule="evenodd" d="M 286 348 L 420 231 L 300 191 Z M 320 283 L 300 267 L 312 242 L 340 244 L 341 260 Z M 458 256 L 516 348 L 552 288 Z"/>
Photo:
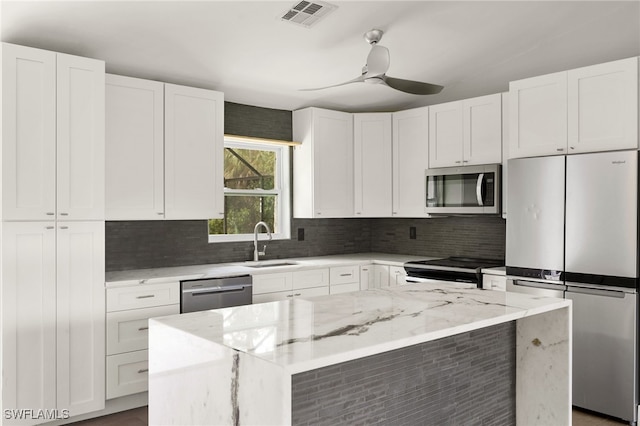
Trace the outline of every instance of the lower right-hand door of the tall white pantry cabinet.
<path fill-rule="evenodd" d="M 58 408 L 75 416 L 104 408 L 104 222 L 57 228 Z"/>

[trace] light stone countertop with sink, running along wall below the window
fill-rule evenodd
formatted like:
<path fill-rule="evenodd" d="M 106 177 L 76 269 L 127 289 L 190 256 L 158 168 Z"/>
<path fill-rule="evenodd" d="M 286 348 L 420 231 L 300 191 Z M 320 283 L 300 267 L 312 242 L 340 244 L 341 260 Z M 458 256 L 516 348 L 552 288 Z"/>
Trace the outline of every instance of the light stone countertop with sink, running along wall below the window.
<path fill-rule="evenodd" d="M 356 253 L 318 257 L 300 257 L 288 259 L 270 259 L 264 262 L 287 261 L 295 265 L 250 267 L 253 262 L 213 263 L 206 265 L 174 266 L 166 268 L 133 269 L 128 271 L 112 271 L 106 273 L 106 286 L 116 287 L 135 284 L 153 284 L 167 281 L 181 281 L 200 278 L 218 278 L 234 275 L 258 275 L 273 272 L 298 271 L 343 265 L 385 264 L 403 266 L 413 260 L 437 259 L 431 256 L 415 256 L 387 253 Z M 261 261 L 263 262 L 263 261 Z"/>

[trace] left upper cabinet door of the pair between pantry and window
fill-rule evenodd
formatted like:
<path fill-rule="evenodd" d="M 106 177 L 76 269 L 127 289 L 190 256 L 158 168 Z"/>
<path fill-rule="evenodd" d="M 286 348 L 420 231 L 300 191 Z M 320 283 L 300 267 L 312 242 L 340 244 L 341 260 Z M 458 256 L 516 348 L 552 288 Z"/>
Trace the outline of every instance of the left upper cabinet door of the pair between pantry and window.
<path fill-rule="evenodd" d="M 164 218 L 164 85 L 106 77 L 107 220 Z"/>

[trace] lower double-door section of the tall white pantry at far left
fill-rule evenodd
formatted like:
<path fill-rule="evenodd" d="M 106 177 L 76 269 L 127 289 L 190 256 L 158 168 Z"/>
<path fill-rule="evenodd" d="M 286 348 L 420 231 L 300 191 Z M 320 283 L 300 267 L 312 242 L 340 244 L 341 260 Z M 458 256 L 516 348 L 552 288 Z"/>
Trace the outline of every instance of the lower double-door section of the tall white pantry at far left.
<path fill-rule="evenodd" d="M 3 408 L 103 409 L 104 222 L 5 222 L 2 263 Z"/>

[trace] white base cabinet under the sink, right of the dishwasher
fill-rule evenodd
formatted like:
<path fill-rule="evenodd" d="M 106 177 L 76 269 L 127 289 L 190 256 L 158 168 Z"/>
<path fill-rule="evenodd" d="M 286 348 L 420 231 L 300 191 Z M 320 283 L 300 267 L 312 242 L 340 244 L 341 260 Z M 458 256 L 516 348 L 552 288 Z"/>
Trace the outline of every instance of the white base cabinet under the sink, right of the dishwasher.
<path fill-rule="evenodd" d="M 329 269 L 257 274 L 253 280 L 253 303 L 275 302 L 293 297 L 329 294 Z"/>

